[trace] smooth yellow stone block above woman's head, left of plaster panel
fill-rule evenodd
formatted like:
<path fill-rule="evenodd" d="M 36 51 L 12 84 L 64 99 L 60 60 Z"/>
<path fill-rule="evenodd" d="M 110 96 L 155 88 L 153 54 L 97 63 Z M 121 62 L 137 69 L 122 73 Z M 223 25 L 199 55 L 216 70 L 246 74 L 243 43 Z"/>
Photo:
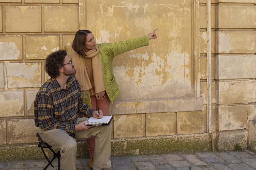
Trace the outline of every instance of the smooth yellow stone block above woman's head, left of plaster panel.
<path fill-rule="evenodd" d="M 78 6 L 45 6 L 45 32 L 76 32 L 79 30 Z"/>

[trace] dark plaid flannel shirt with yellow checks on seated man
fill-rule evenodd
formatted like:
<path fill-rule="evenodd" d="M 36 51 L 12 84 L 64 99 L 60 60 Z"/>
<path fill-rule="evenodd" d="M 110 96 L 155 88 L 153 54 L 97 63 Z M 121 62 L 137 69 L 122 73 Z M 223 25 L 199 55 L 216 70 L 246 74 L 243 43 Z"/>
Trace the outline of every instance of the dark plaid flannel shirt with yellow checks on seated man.
<path fill-rule="evenodd" d="M 50 78 L 39 89 L 34 102 L 35 124 L 43 131 L 62 129 L 73 133 L 77 114 L 92 116 L 94 111 L 83 102 L 79 83 L 71 75 L 62 89 L 58 81 Z"/>

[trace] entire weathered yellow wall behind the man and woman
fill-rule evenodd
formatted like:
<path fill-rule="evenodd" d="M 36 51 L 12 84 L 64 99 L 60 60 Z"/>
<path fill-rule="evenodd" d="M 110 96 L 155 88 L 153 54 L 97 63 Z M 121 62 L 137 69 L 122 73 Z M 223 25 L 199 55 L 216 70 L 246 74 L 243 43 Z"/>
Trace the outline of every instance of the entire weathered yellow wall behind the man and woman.
<path fill-rule="evenodd" d="M 220 151 L 236 143 L 246 148 L 247 142 L 255 148 L 254 3 L 212 0 L 212 132 Z M 193 135 L 204 134 L 209 143 L 206 0 L 0 0 L 0 143 L 37 141 L 33 102 L 49 78 L 45 58 L 64 48 L 72 56 L 76 31 L 91 30 L 96 43 L 105 43 L 155 28 L 157 40 L 113 60 L 121 90 L 110 106 L 115 148 L 134 137 L 150 143 L 156 136 L 177 136 L 191 144 Z"/>

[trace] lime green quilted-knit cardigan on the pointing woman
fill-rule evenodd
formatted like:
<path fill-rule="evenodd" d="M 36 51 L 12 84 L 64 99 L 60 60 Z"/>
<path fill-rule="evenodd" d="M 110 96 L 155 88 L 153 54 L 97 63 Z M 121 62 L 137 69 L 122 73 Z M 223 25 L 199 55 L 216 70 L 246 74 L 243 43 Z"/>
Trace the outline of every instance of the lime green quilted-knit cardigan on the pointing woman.
<path fill-rule="evenodd" d="M 116 97 L 120 94 L 120 90 L 118 88 L 112 68 L 113 58 L 121 53 L 125 53 L 127 51 L 148 45 L 148 35 L 133 39 L 127 39 L 124 41 L 118 41 L 115 43 L 97 44 L 99 48 L 98 57 L 100 59 L 100 63 L 103 70 L 103 81 L 105 91 L 111 103 L 114 103 Z M 90 96 L 84 98 L 84 103 L 92 107 Z"/>

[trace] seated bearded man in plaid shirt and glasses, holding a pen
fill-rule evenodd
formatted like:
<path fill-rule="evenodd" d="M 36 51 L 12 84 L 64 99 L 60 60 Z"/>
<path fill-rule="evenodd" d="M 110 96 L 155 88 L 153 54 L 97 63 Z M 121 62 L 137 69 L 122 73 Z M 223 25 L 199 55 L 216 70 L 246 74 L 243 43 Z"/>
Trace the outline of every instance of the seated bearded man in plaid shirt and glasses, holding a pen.
<path fill-rule="evenodd" d="M 112 126 L 85 126 L 88 118 L 77 117 L 79 114 L 102 118 L 103 113 L 84 104 L 74 65 L 65 50 L 47 56 L 45 71 L 51 78 L 39 89 L 34 102 L 37 132 L 44 142 L 60 151 L 62 170 L 76 169 L 75 139 L 92 136 L 96 136 L 92 169 L 110 168 Z M 71 133 L 75 133 L 75 139 L 69 136 Z"/>

